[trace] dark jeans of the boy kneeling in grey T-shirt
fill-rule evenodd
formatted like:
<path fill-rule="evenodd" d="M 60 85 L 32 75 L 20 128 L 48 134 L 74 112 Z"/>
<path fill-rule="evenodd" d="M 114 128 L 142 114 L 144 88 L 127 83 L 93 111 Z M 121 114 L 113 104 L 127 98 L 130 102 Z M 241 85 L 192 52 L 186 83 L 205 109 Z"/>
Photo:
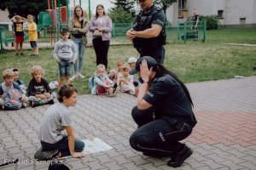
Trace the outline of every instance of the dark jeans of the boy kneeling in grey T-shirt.
<path fill-rule="evenodd" d="M 70 151 L 68 148 L 68 137 L 67 135 L 63 135 L 63 138 L 55 143 L 49 144 L 44 141 L 41 141 L 43 150 L 59 150 L 61 152 L 61 156 L 70 156 Z M 75 152 L 82 152 L 84 150 L 84 142 L 81 140 L 74 140 L 74 150 Z"/>

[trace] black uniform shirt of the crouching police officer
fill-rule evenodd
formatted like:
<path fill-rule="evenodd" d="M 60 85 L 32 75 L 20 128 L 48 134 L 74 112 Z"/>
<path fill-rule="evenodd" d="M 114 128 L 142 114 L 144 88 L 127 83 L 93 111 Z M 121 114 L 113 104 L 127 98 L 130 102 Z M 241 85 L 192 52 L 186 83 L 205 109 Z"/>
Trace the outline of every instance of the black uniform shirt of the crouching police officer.
<path fill-rule="evenodd" d="M 189 99 L 172 76 L 155 77 L 143 99 L 154 106 L 156 115 L 168 122 L 186 122 L 195 126 L 196 119 Z"/>

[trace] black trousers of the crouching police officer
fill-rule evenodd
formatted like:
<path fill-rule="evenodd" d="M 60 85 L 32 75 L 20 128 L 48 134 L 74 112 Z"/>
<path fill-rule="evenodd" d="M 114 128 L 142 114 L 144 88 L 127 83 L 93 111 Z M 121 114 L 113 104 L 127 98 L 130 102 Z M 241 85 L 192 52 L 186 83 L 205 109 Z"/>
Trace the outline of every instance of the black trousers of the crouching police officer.
<path fill-rule="evenodd" d="M 137 123 L 137 130 L 131 134 L 130 144 L 134 150 L 148 155 L 169 155 L 174 157 L 183 150 L 183 144 L 178 142 L 192 132 L 189 124 L 176 122 L 172 124 L 167 118 L 153 117 L 154 109 L 139 110 L 135 106 L 131 116 Z"/>

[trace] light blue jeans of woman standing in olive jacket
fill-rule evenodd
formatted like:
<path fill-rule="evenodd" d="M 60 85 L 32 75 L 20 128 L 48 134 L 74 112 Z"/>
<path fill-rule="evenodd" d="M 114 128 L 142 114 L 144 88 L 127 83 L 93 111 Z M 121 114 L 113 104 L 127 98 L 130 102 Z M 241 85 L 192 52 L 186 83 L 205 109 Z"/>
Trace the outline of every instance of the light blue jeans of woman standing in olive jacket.
<path fill-rule="evenodd" d="M 73 65 L 75 73 L 81 72 L 82 66 L 83 66 L 83 59 L 84 59 L 84 51 L 85 51 L 85 46 L 82 42 L 82 38 L 74 38 L 73 42 L 76 45 L 76 48 L 78 50 L 78 58 L 76 60 L 76 63 Z"/>

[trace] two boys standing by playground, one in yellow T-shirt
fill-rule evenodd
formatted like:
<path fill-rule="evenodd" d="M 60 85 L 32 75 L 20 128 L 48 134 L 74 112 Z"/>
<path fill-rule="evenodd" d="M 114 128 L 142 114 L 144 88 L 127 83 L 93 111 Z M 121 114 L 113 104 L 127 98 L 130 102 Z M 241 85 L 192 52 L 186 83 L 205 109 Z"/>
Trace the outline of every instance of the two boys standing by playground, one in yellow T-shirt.
<path fill-rule="evenodd" d="M 24 42 L 24 31 L 28 33 L 28 39 L 32 47 L 31 56 L 38 56 L 38 31 L 37 24 L 33 21 L 34 17 L 32 14 L 28 14 L 26 18 L 21 17 L 20 15 L 15 15 L 11 18 L 14 23 L 15 31 L 15 55 L 24 56 L 23 53 L 23 42 Z M 19 49 L 20 46 L 20 49 Z"/>

